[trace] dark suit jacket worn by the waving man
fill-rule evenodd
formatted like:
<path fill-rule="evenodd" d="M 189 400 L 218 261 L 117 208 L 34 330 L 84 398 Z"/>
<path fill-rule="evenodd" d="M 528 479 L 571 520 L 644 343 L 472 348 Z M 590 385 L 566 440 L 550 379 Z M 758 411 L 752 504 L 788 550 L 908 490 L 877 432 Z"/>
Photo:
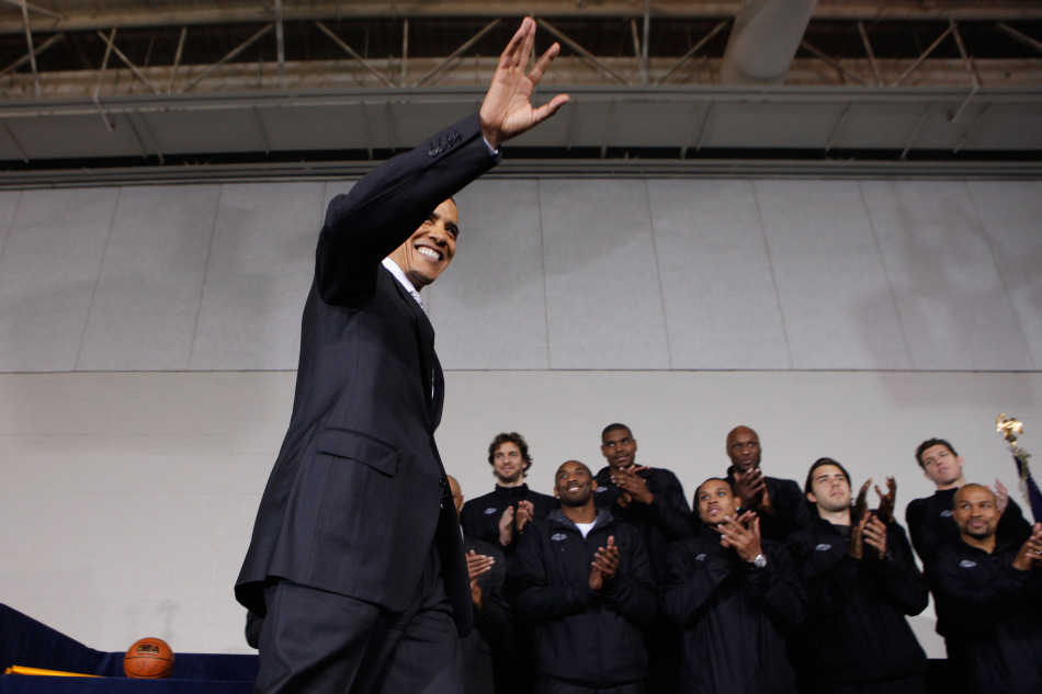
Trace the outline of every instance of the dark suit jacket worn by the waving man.
<path fill-rule="evenodd" d="M 434 545 L 456 624 L 469 628 L 458 521 L 433 437 L 444 389 L 434 330 L 381 261 L 497 160 L 475 115 L 330 202 L 290 429 L 236 582 L 253 612 L 264 614 L 263 585 L 279 578 L 401 611 Z"/>

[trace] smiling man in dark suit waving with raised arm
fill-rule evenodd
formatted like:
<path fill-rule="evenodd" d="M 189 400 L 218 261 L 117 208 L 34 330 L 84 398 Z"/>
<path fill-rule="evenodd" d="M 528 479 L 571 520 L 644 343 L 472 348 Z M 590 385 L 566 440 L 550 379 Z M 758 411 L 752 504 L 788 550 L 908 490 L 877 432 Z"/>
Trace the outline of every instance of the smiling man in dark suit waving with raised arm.
<path fill-rule="evenodd" d="M 455 252 L 450 196 L 567 101 L 531 105 L 559 50 L 525 75 L 534 39 L 525 19 L 479 114 L 329 204 L 293 414 L 236 583 L 267 615 L 256 692 L 463 690 L 471 590 L 434 445 L 444 382 L 419 289 Z"/>

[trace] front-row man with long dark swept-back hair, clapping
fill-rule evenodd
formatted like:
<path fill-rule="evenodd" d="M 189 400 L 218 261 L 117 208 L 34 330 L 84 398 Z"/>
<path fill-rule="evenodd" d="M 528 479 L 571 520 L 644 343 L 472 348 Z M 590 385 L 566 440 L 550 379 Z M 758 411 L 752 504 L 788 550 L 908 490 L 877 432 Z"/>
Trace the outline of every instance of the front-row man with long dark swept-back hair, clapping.
<path fill-rule="evenodd" d="M 926 653 L 905 615 L 929 600 L 904 530 L 894 522 L 897 486 L 880 510 L 851 509 L 850 476 L 831 458 L 811 466 L 804 487 L 817 517 L 789 536 L 807 592 L 807 617 L 792 639 L 802 691 L 926 694 Z"/>

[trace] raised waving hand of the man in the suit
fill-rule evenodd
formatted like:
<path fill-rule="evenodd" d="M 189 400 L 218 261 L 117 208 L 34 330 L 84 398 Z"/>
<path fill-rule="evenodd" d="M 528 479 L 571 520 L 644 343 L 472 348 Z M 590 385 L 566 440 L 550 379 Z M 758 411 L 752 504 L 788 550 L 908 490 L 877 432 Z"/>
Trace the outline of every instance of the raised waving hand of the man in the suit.
<path fill-rule="evenodd" d="M 560 45 L 555 43 L 525 75 L 534 44 L 535 20 L 526 16 L 499 57 L 492 83 L 482 104 L 482 134 L 494 149 L 539 125 L 568 103 L 567 94 L 557 94 L 542 106 L 532 106 L 532 92 L 560 52 Z"/>

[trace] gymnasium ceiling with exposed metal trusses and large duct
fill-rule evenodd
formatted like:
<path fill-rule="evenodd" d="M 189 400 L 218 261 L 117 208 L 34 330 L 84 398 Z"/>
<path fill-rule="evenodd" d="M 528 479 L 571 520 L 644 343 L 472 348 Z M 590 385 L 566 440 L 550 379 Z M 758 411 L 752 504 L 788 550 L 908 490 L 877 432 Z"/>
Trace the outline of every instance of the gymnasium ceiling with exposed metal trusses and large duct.
<path fill-rule="evenodd" d="M 1042 172 L 1038 0 L 0 0 L 0 186 L 358 174 L 524 14 L 573 103 L 499 175 Z"/>

